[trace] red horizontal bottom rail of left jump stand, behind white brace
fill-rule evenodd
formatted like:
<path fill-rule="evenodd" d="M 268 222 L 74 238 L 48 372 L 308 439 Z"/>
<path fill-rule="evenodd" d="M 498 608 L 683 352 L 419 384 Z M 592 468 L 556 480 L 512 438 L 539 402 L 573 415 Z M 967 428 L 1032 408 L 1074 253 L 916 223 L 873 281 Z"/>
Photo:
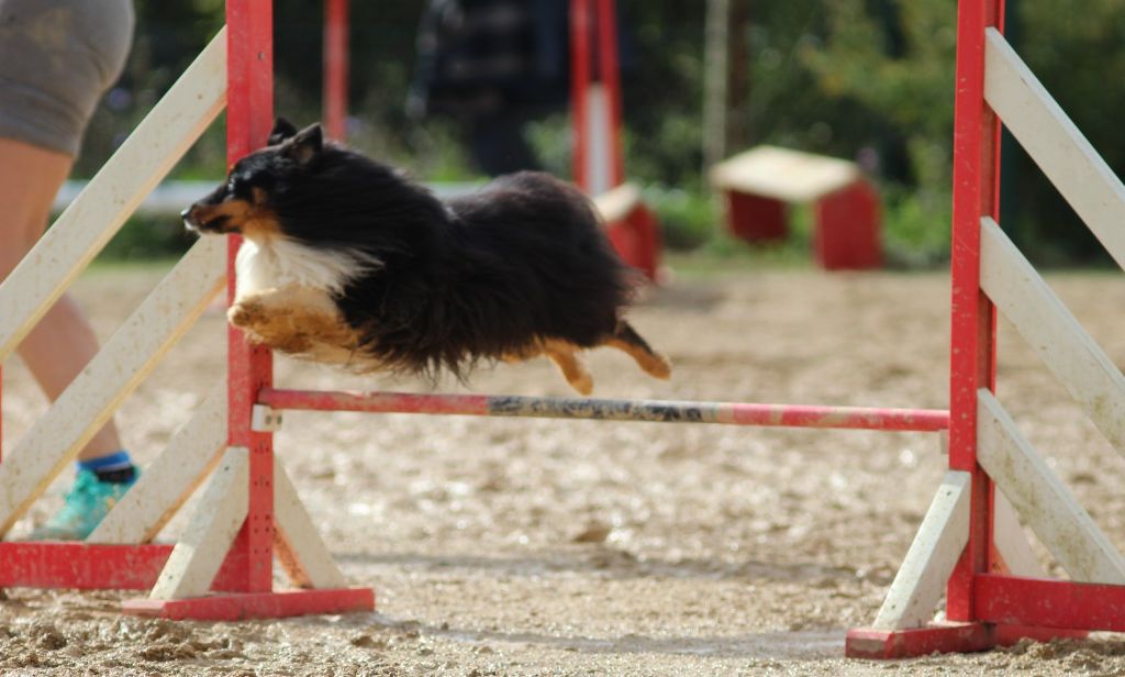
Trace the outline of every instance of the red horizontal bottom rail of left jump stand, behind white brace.
<path fill-rule="evenodd" d="M 82 542 L 0 543 L 0 588 L 146 590 L 156 584 L 172 545 L 106 545 Z M 244 550 L 232 550 L 215 576 L 215 590 L 238 589 Z M 242 576 L 244 578 L 244 574 Z"/>

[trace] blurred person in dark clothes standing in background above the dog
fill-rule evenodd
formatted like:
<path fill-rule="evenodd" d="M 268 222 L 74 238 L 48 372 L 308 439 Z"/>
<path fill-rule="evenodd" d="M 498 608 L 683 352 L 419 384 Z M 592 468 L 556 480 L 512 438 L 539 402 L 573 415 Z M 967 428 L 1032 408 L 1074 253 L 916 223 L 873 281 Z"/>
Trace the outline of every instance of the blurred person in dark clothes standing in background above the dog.
<path fill-rule="evenodd" d="M 567 105 L 567 0 L 431 0 L 408 115 L 453 120 L 490 177 L 540 169 L 524 126 Z"/>

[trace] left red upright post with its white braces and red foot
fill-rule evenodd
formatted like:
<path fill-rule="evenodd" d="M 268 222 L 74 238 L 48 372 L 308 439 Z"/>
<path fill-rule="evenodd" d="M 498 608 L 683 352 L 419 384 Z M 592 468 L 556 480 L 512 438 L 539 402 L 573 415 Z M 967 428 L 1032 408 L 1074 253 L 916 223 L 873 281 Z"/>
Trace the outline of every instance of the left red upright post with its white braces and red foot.
<path fill-rule="evenodd" d="M 273 19 L 271 0 L 232 1 L 226 6 L 228 28 L 227 57 L 227 164 L 266 145 L 273 125 Z M 235 256 L 242 238 L 227 238 L 227 303 L 234 301 Z M 292 567 L 298 578 L 314 588 L 273 590 L 273 556 L 282 561 L 300 559 L 305 549 L 323 559 L 323 544 L 297 543 L 296 533 L 285 533 L 276 518 L 277 489 L 287 484 L 274 467 L 273 435 L 269 426 L 254 426 L 258 395 L 273 380 L 270 351 L 251 345 L 236 327 L 227 327 L 227 445 L 224 457 L 230 486 L 220 487 L 223 477 L 213 480 L 213 509 L 200 514 L 188 529 L 161 572 L 148 599 L 127 602 L 126 613 L 168 617 L 224 619 L 272 617 L 307 613 L 338 613 L 371 608 L 374 595 L 368 588 L 342 587 L 335 566 L 326 566 L 321 581 L 312 580 L 309 561 Z M 242 486 L 240 486 L 241 482 Z M 245 506 L 243 513 L 240 508 Z M 237 534 L 230 540 L 231 529 Z M 305 530 L 307 531 L 307 530 Z M 236 593 L 197 596 L 199 584 L 213 576 L 216 553 L 227 543 L 230 552 L 245 553 Z M 331 560 L 328 560 L 331 563 Z M 245 577 L 244 580 L 242 577 Z M 326 585 L 325 585 L 326 584 Z M 206 587 L 202 588 L 206 590 Z"/>

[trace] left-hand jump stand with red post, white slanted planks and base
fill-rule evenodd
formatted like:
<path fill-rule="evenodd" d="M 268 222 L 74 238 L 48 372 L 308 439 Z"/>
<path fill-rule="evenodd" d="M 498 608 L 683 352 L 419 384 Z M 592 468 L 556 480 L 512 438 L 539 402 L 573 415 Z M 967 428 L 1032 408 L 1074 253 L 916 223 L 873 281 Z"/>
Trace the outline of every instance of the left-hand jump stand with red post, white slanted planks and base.
<path fill-rule="evenodd" d="M 120 228 L 145 195 L 223 110 L 227 160 L 264 144 L 273 121 L 272 8 L 227 3 L 207 46 L 33 252 L 0 286 L 0 360 Z M 97 222 L 101 223 L 97 223 Z M 93 226 L 93 227 L 91 227 Z M 78 455 L 117 406 L 195 323 L 226 280 L 238 242 L 204 238 L 106 343 L 0 463 L 0 533 Z M 52 261 L 51 267 L 36 261 Z M 82 543 L 0 543 L 0 587 L 148 589 L 126 613 L 234 620 L 374 608 L 349 588 L 273 459 L 273 421 L 255 407 L 271 356 L 230 333 L 228 376 Z M 174 547 L 150 541 L 204 481 Z M 297 589 L 273 590 L 273 557 Z"/>

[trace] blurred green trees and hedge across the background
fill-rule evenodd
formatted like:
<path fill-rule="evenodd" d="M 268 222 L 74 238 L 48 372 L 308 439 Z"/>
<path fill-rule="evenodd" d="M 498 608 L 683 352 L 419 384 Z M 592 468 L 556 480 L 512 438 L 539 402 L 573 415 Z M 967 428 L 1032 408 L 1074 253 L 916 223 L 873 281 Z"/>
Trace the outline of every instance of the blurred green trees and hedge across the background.
<path fill-rule="evenodd" d="M 727 111 L 737 152 L 770 143 L 855 159 L 884 198 L 892 261 L 925 265 L 948 255 L 955 3 L 950 0 L 730 0 L 734 19 Z M 448 123 L 405 114 L 425 2 L 351 3 L 349 142 L 425 180 L 474 179 Z M 627 168 L 647 187 L 680 247 L 723 246 L 702 172 L 705 3 L 619 0 Z M 223 22 L 222 0 L 136 0 L 126 73 L 87 133 L 76 174 L 91 175 Z M 320 118 L 323 8 L 276 0 L 277 110 Z M 1125 0 L 1008 0 L 1008 34 L 1025 61 L 1115 171 L 1125 164 Z M 536 121 L 544 165 L 569 174 L 565 111 Z M 218 179 L 217 124 L 173 178 Z M 1006 229 L 1041 263 L 1107 258 L 1015 144 L 1005 145 Z M 177 223 L 136 223 L 120 255 L 182 249 Z M 720 243 L 720 244 L 717 244 Z M 726 246 L 729 246 L 726 245 Z"/>

